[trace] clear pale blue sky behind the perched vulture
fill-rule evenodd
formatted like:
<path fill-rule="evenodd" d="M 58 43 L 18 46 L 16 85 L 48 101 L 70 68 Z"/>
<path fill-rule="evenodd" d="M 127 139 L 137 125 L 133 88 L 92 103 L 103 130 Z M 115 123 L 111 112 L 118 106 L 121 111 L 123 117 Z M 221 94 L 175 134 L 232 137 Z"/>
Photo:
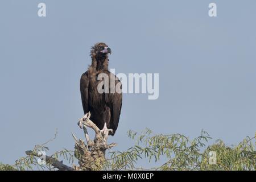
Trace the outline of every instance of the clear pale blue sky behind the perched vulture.
<path fill-rule="evenodd" d="M 37 15 L 38 3 L 47 17 Z M 217 17 L 208 16 L 210 2 Z M 0 161 L 52 138 L 51 152 L 83 138 L 79 81 L 90 46 L 112 48 L 116 73 L 159 73 L 159 99 L 125 94 L 109 142 L 129 129 L 237 144 L 256 129 L 256 1 L 11 1 L 0 6 Z"/>

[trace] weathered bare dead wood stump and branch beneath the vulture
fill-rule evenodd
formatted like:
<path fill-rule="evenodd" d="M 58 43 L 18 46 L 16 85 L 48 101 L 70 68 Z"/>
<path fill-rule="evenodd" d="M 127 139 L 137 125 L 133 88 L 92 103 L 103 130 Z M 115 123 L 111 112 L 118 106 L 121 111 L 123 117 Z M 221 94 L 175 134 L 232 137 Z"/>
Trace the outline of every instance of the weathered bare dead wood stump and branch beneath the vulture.
<path fill-rule="evenodd" d="M 52 156 L 43 156 L 46 163 L 50 164 L 54 168 L 61 171 L 73 171 L 73 170 L 100 170 L 105 162 L 106 150 L 114 147 L 117 143 L 107 144 L 109 132 L 112 130 L 106 129 L 102 132 L 91 120 L 90 113 L 87 113 L 79 119 L 78 125 L 84 130 L 86 144 L 84 140 L 77 139 L 72 133 L 75 139 L 75 157 L 79 160 L 79 166 L 73 164 L 73 167 L 66 166 L 63 162 L 53 158 Z M 95 131 L 95 137 L 93 140 L 90 139 L 86 127 L 90 127 Z M 56 138 L 56 135 L 55 135 Z M 55 139 L 54 138 L 54 139 Z M 26 151 L 26 154 L 33 157 L 41 158 L 42 154 L 38 154 L 35 151 Z"/>

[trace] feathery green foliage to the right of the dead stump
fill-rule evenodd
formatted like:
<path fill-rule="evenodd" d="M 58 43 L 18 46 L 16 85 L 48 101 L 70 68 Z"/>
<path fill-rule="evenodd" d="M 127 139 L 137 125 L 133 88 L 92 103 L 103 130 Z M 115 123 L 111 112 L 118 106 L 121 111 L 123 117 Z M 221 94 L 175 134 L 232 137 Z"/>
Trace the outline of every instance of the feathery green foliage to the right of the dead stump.
<path fill-rule="evenodd" d="M 153 170 L 255 170 L 254 138 L 247 137 L 238 146 L 227 147 L 218 140 L 216 144 L 205 146 L 209 134 L 201 131 L 201 135 L 193 140 L 181 134 L 154 134 L 146 129 L 137 137 L 137 133 L 129 131 L 128 136 L 135 139 L 135 146 L 125 152 L 110 152 L 105 169 L 130 170 L 143 169 L 136 167 L 138 159 L 146 158 L 150 162 L 167 159 L 162 166 Z M 216 163 L 210 163 L 210 151 L 216 154 Z"/>

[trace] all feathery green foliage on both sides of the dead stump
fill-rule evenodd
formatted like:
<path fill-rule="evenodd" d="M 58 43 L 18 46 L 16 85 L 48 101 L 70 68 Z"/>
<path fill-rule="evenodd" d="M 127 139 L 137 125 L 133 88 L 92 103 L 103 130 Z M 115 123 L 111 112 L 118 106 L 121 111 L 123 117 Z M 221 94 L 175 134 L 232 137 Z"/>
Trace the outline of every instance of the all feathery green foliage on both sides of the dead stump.
<path fill-rule="evenodd" d="M 150 168 L 151 170 L 253 170 L 256 168 L 255 137 L 246 137 L 237 146 L 226 146 L 222 140 L 217 140 L 207 147 L 209 134 L 201 131 L 199 137 L 189 139 L 181 134 L 154 134 L 146 129 L 141 134 L 128 131 L 130 139 L 135 140 L 133 147 L 126 151 L 109 152 L 109 159 L 100 163 L 103 170 L 143 170 L 138 167 L 138 160 L 148 162 L 162 162 L 162 165 Z M 56 138 L 56 134 L 55 134 Z M 55 138 L 49 140 L 52 141 Z M 48 141 L 48 142 L 49 142 Z M 254 143 L 253 143 L 254 141 Z M 35 146 L 34 152 L 48 151 L 44 143 Z M 55 159 L 74 163 L 74 151 L 61 150 L 51 155 Z M 0 170 L 55 170 L 51 164 L 39 165 L 38 157 L 27 155 L 16 160 L 13 166 L 0 164 Z M 213 160 L 212 160 L 213 159 Z"/>

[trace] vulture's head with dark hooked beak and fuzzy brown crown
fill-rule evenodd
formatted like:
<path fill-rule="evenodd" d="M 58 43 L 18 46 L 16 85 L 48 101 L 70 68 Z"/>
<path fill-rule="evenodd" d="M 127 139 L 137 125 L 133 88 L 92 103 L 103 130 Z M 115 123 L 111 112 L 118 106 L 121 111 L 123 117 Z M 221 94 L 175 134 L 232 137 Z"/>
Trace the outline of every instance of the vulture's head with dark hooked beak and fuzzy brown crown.
<path fill-rule="evenodd" d="M 99 60 L 108 57 L 108 53 L 111 54 L 111 49 L 108 47 L 108 45 L 101 42 L 95 44 L 92 47 L 90 51 L 90 56 L 92 56 L 92 58 L 96 58 L 97 60 Z"/>

